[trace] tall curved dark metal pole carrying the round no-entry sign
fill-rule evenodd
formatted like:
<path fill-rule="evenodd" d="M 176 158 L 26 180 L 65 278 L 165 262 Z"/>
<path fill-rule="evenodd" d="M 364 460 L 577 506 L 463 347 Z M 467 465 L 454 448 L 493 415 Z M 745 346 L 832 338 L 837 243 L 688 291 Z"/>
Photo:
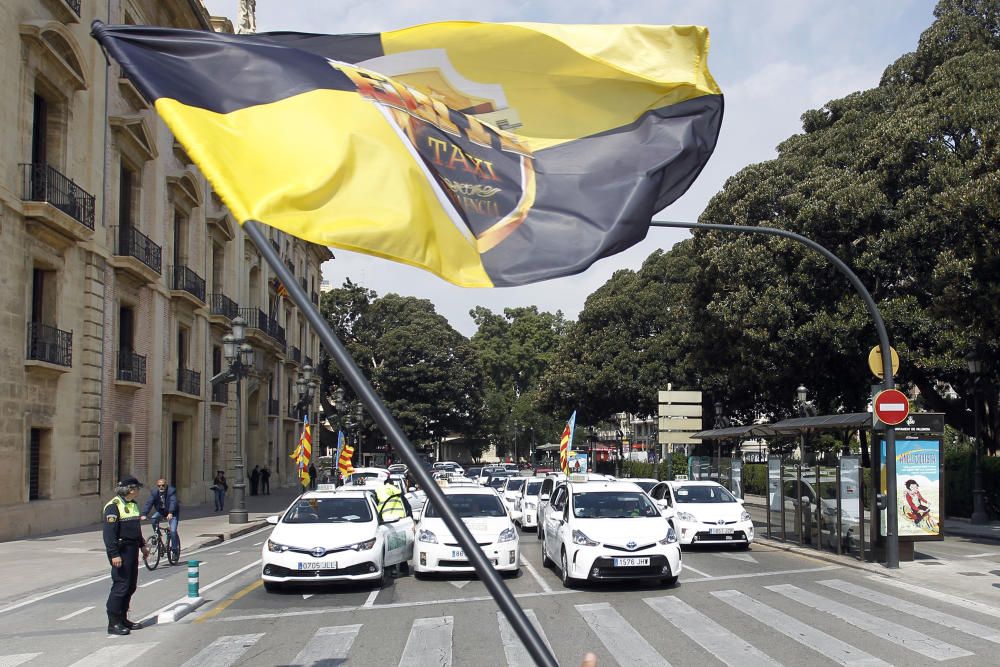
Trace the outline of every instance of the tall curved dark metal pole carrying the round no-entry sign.
<path fill-rule="evenodd" d="M 820 253 L 826 257 L 831 264 L 837 267 L 837 269 L 844 274 L 847 280 L 851 283 L 854 289 L 858 292 L 862 301 L 865 302 L 865 307 L 868 309 L 868 314 L 871 316 L 872 321 L 875 323 L 875 330 L 878 333 L 879 340 L 879 351 L 882 354 L 882 369 L 883 377 L 885 381 L 883 386 L 885 389 L 895 388 L 895 383 L 892 379 L 892 355 L 891 347 L 889 346 L 889 333 L 885 328 L 885 321 L 882 319 L 882 313 L 879 312 L 878 306 L 875 304 L 875 300 L 872 295 L 868 292 L 868 289 L 861 282 L 861 279 L 855 275 L 854 271 L 851 270 L 847 264 L 844 263 L 842 259 L 834 255 L 832 252 L 816 243 L 812 239 L 808 239 L 801 234 L 796 234 L 795 232 L 790 232 L 785 229 L 776 229 L 774 227 L 754 227 L 754 226 L 743 226 L 743 225 L 719 225 L 715 223 L 696 223 L 696 222 L 667 222 L 663 220 L 653 220 L 649 223 L 650 227 L 672 227 L 679 229 L 712 229 L 720 232 L 738 232 L 741 234 L 767 234 L 769 236 L 781 236 L 787 239 L 792 239 L 797 241 L 812 250 Z M 885 566 L 889 569 L 895 569 L 899 567 L 899 509 L 898 502 L 899 498 L 896 492 L 896 429 L 891 426 L 887 426 L 885 429 L 885 490 L 886 490 L 886 502 L 888 503 L 887 521 L 886 521 L 886 538 L 885 538 Z"/>

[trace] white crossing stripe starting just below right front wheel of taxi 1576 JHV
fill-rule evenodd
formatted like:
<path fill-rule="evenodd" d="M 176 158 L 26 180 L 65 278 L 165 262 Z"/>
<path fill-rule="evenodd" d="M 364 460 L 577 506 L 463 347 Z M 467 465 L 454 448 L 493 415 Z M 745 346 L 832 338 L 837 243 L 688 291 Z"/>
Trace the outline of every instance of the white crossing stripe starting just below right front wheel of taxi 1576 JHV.
<path fill-rule="evenodd" d="M 644 598 L 643 602 L 729 667 L 771 667 L 781 664 L 673 595 Z"/>

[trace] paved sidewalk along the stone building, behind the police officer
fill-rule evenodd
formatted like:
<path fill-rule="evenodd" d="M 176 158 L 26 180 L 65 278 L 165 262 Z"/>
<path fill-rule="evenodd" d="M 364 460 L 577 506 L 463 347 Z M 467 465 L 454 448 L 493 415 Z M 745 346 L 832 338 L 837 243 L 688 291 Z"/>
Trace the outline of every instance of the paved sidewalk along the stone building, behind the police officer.
<path fill-rule="evenodd" d="M 226 496 L 224 512 L 215 512 L 211 502 L 190 507 L 182 502 L 178 527 L 181 563 L 187 553 L 266 526 L 267 517 L 288 507 L 300 488 L 275 488 L 267 496 L 247 496 L 249 522 L 244 524 L 229 523 L 232 493 Z M 140 507 L 148 493 L 148 489 L 143 489 L 138 499 Z M 21 601 L 26 595 L 41 595 L 109 574 L 101 531 L 101 524 L 95 523 L 85 528 L 0 542 L 0 563 L 4 564 L 0 569 L 0 607 Z M 143 522 L 143 535 L 148 536 L 149 532 L 149 523 Z"/>

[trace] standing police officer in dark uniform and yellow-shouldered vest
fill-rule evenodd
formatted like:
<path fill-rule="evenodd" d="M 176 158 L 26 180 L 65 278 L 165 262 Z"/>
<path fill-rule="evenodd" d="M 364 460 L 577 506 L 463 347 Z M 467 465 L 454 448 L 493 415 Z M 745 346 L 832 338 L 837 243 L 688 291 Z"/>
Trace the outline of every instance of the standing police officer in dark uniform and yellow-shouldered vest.
<path fill-rule="evenodd" d="M 118 482 L 115 497 L 104 506 L 104 548 L 111 562 L 111 594 L 108 595 L 108 634 L 127 635 L 140 623 L 128 620 L 129 603 L 139 579 L 139 550 L 149 549 L 142 539 L 139 504 L 135 502 L 142 484 L 131 475 Z"/>

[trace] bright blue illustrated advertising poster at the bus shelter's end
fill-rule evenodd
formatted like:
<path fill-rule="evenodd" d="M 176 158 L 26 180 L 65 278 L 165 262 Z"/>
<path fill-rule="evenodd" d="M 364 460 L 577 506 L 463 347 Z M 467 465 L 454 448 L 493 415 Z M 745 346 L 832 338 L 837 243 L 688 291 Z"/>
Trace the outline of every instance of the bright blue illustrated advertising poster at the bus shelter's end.
<path fill-rule="evenodd" d="M 882 443 L 885 461 L 885 441 Z M 885 493 L 885 467 L 882 492 Z M 900 537 L 937 537 L 941 523 L 941 441 L 896 441 L 896 507 Z M 882 512 L 882 534 L 885 535 Z"/>

